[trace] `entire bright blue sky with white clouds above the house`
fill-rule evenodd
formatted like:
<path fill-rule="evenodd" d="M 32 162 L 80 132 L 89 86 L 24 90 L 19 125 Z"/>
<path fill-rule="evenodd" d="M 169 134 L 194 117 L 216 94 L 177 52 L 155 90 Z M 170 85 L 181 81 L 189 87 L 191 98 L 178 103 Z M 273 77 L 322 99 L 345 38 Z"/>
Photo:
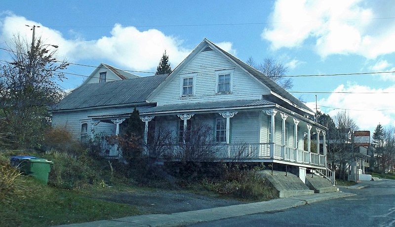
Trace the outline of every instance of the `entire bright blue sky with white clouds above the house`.
<path fill-rule="evenodd" d="M 208 38 L 242 61 L 273 57 L 288 67 L 288 76 L 395 71 L 392 0 L 4 0 L 0 10 L 1 48 L 8 48 L 13 34 L 31 40 L 25 25 L 36 25 L 45 43 L 59 45 L 61 59 L 78 64 L 155 72 L 165 49 L 175 68 Z M 0 50 L 0 59 L 8 56 Z M 65 72 L 88 76 L 93 70 L 72 65 Z M 65 89 L 84 79 L 67 77 Z M 317 95 L 321 112 L 333 117 L 347 109 L 362 130 L 395 126 L 395 74 L 293 82 L 290 91 L 313 92 L 292 93 L 312 109 Z"/>

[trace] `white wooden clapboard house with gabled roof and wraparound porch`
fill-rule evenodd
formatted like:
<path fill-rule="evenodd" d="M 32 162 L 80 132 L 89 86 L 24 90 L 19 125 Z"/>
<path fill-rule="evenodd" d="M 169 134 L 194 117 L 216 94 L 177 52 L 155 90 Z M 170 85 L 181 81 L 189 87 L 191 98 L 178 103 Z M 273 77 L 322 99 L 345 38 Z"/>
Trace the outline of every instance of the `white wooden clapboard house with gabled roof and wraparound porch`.
<path fill-rule="evenodd" d="M 225 147 L 246 143 L 245 161 L 293 165 L 302 171 L 326 168 L 326 151 L 319 153 L 319 142 L 318 152 L 304 147 L 305 135 L 310 144 L 314 131 L 323 135 L 325 148 L 326 128 L 306 118 L 314 112 L 207 39 L 169 75 L 82 84 L 54 108 L 52 124 L 66 126 L 82 139 L 119 134 L 119 125 L 134 107 L 146 131 L 153 119 L 175 134 L 198 121 L 212 126 Z M 232 160 L 233 151 L 225 151 L 218 158 Z"/>

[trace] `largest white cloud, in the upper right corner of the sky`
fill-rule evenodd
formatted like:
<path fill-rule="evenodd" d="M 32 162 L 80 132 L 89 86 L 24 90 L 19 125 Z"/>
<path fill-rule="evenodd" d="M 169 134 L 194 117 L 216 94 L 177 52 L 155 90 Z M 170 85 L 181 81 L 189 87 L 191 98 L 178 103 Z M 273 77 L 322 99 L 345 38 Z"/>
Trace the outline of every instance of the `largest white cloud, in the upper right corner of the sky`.
<path fill-rule="evenodd" d="M 385 4 L 384 6 L 382 4 Z M 298 47 L 313 41 L 321 57 L 357 54 L 366 58 L 395 52 L 395 4 L 363 0 L 277 0 L 261 37 L 273 49 Z"/>

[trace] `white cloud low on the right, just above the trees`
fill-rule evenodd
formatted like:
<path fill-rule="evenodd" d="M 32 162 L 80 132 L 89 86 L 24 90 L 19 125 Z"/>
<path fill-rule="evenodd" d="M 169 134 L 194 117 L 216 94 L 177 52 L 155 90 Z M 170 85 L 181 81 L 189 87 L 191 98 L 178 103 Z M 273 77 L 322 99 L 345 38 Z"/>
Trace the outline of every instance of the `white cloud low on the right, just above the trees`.
<path fill-rule="evenodd" d="M 326 99 L 317 101 L 321 112 L 329 114 L 332 118 L 341 111 L 347 109 L 351 118 L 356 121 L 360 129 L 374 130 L 378 123 L 387 126 L 395 126 L 395 105 L 389 100 L 394 97 L 395 85 L 374 89 L 368 86 L 357 84 L 339 85 L 334 92 L 352 93 L 332 93 Z M 375 94 L 355 94 L 355 93 Z M 392 93 L 383 93 L 392 92 Z M 315 108 L 315 103 L 307 103 L 310 108 Z M 326 108 L 328 107 L 328 108 Z"/>

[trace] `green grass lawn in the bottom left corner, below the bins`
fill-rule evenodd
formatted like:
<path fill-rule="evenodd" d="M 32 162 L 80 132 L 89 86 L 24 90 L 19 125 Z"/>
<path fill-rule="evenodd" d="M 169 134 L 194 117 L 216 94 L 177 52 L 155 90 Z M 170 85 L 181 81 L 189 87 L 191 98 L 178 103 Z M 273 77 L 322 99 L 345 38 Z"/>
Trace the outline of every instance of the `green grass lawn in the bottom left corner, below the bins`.
<path fill-rule="evenodd" d="M 25 198 L 14 198 L 2 206 L 0 226 L 52 226 L 140 215 L 135 206 L 90 198 L 109 188 L 56 189 L 23 176 L 28 188 Z"/>

